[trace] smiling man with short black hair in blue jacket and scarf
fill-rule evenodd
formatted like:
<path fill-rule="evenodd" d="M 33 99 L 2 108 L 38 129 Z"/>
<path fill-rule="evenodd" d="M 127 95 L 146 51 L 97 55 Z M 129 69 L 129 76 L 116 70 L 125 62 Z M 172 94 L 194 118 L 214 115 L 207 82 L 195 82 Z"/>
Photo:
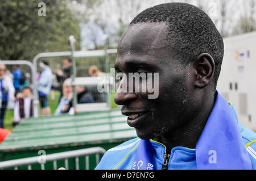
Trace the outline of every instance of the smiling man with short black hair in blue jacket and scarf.
<path fill-rule="evenodd" d="M 216 91 L 223 54 L 220 33 L 195 6 L 166 3 L 137 15 L 119 41 L 119 87 L 136 86 L 125 84 L 129 73 L 158 73 L 158 97 L 117 90 L 138 138 L 108 150 L 96 169 L 256 169 L 256 134 Z"/>

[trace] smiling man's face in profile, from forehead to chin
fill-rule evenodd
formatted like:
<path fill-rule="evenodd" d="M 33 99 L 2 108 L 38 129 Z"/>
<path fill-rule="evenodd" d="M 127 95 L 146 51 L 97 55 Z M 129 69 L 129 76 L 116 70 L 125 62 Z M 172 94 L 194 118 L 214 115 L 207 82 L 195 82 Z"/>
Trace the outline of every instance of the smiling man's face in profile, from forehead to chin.
<path fill-rule="evenodd" d="M 189 119 L 189 66 L 175 61 L 174 52 L 166 46 L 166 35 L 165 23 L 134 24 L 127 28 L 118 45 L 118 72 L 126 77 L 136 72 L 159 73 L 156 99 L 148 99 L 147 92 L 115 94 L 115 103 L 122 105 L 123 115 L 133 115 L 127 118 L 127 123 L 142 139 L 171 132 Z"/>

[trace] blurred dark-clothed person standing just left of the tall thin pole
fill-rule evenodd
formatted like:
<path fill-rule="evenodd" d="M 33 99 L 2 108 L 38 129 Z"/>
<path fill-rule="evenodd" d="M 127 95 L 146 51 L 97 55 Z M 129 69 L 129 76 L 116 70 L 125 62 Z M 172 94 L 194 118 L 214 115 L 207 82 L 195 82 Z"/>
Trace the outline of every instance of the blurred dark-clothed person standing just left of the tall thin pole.
<path fill-rule="evenodd" d="M 57 81 L 59 82 L 59 87 L 60 87 L 60 96 L 59 96 L 59 102 L 60 99 L 63 96 L 63 82 L 67 78 L 71 78 L 72 75 L 72 60 L 71 58 L 65 58 L 63 61 L 63 70 L 56 70 L 55 71 Z"/>

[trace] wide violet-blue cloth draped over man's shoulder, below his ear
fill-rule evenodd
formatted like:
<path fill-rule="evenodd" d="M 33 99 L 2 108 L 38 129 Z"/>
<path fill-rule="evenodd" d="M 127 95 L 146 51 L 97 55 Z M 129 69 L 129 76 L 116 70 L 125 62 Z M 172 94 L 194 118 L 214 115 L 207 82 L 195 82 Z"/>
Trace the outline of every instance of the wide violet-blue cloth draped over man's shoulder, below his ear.
<path fill-rule="evenodd" d="M 229 103 L 218 93 L 216 102 L 196 144 L 197 169 L 252 169 Z"/>

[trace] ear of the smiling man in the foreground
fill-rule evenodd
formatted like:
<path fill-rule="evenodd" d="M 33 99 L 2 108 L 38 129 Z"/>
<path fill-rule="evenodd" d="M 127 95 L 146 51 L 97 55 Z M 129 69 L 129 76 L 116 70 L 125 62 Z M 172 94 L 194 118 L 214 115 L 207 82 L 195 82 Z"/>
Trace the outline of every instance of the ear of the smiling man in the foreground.
<path fill-rule="evenodd" d="M 196 68 L 195 86 L 203 89 L 208 86 L 214 75 L 214 60 L 208 53 L 200 54 L 194 61 Z"/>

